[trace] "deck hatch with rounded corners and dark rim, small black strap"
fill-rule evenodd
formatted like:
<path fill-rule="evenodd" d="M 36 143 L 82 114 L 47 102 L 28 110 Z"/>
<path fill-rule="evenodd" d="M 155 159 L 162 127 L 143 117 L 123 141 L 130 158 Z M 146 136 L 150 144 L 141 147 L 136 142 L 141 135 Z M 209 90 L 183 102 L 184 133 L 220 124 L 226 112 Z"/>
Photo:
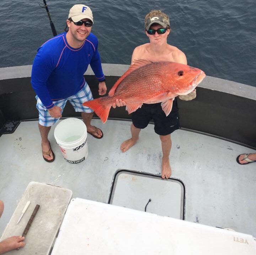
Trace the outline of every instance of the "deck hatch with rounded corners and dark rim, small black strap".
<path fill-rule="evenodd" d="M 185 185 L 175 178 L 118 170 L 108 204 L 145 211 L 147 203 L 146 212 L 185 219 Z"/>

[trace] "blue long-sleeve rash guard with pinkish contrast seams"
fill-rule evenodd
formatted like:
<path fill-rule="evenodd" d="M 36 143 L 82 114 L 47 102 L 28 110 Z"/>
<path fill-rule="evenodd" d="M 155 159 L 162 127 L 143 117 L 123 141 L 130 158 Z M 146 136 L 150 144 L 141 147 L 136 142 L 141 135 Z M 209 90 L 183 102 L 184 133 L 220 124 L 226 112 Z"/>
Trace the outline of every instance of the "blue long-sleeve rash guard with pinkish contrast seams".
<path fill-rule="evenodd" d="M 64 32 L 37 50 L 31 83 L 47 109 L 54 106 L 53 101 L 73 96 L 82 89 L 89 64 L 98 81 L 105 79 L 97 48 L 98 40 L 92 33 L 80 48 L 75 49 L 69 46 Z"/>

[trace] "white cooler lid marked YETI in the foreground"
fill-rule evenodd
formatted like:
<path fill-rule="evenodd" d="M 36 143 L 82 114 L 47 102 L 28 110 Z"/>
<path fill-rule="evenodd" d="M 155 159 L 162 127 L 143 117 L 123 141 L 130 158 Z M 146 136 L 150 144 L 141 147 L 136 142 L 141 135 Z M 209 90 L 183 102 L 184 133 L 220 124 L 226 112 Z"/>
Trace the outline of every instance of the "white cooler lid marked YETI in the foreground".
<path fill-rule="evenodd" d="M 251 235 L 73 199 L 51 255 L 255 255 Z"/>

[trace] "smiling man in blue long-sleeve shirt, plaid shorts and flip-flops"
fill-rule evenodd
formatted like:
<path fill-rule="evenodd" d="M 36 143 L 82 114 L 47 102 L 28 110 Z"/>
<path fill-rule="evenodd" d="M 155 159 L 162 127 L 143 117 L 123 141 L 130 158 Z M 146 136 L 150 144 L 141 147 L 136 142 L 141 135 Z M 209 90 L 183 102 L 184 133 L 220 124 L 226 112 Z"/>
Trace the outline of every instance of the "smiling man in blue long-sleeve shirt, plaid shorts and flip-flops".
<path fill-rule="evenodd" d="M 98 53 L 98 40 L 91 33 L 93 16 L 86 5 L 74 5 L 66 21 L 68 32 L 44 43 L 37 52 L 32 66 L 31 83 L 37 96 L 39 131 L 42 137 L 43 158 L 54 161 L 48 134 L 62 116 L 67 100 L 76 112 L 81 112 L 87 132 L 97 139 L 103 137 L 100 129 L 91 125 L 93 110 L 82 105 L 92 100 L 91 90 L 84 79 L 90 64 L 99 81 L 99 95 L 106 94 L 105 76 Z M 65 29 L 66 31 L 66 29 Z"/>

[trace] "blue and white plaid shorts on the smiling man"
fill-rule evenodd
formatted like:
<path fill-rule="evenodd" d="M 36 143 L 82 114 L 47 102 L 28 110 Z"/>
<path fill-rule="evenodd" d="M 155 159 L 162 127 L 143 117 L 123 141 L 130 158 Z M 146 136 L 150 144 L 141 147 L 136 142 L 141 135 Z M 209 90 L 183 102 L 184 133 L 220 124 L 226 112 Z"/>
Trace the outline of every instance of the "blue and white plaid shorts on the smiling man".
<path fill-rule="evenodd" d="M 36 96 L 36 99 L 37 99 L 36 107 L 39 112 L 39 124 L 47 127 L 54 125 L 59 120 L 59 118 L 53 118 L 49 114 L 46 107 L 44 107 L 44 105 L 42 104 L 38 96 Z M 78 93 L 76 93 L 74 96 L 64 98 L 58 101 L 53 101 L 53 104 L 55 106 L 59 106 L 60 108 L 62 108 L 62 112 L 63 112 L 66 102 L 69 101 L 73 105 L 75 112 L 92 113 L 93 110 L 91 108 L 82 105 L 82 103 L 86 101 L 90 101 L 92 99 L 93 97 L 92 97 L 91 89 L 87 84 L 87 82 L 85 82 L 84 87 L 80 91 L 78 91 Z"/>

